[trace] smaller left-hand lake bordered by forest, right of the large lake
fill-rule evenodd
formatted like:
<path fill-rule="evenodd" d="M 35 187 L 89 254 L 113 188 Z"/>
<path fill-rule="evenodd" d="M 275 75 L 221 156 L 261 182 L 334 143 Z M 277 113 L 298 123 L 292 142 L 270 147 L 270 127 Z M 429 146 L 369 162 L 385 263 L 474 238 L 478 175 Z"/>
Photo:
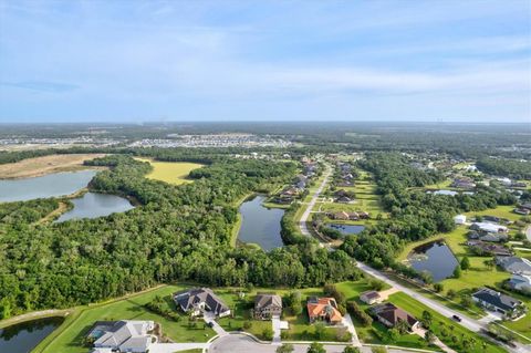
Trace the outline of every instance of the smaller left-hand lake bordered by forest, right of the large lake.
<path fill-rule="evenodd" d="M 69 219 L 96 218 L 108 216 L 114 212 L 125 212 L 134 208 L 129 200 L 116 195 L 86 193 L 80 198 L 72 199 L 74 208 L 64 212 L 55 221 L 62 222 Z"/>

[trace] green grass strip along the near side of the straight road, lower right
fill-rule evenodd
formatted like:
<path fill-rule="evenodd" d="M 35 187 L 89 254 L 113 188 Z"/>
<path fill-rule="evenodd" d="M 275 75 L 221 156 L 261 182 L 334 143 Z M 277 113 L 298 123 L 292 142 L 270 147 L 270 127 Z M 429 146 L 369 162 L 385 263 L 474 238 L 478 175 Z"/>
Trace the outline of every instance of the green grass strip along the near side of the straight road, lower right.
<path fill-rule="evenodd" d="M 492 344 L 487 343 L 487 347 L 483 349 L 481 343 L 487 342 L 485 339 L 479 336 L 478 334 L 468 331 L 467 329 L 462 328 L 461 325 L 457 324 L 456 322 L 451 321 L 450 319 L 439 314 L 438 312 L 429 309 L 428 307 L 421 304 L 420 302 L 414 300 L 413 298 L 399 292 L 395 293 L 389 297 L 389 301 L 397 305 L 398 308 L 407 311 L 409 314 L 414 315 L 415 318 L 419 319 L 423 316 L 424 311 L 429 311 L 433 316 L 433 323 L 430 329 L 434 333 L 448 346 L 452 347 L 458 352 L 464 352 L 465 347 L 462 346 L 462 338 L 473 339 L 475 344 L 470 350 L 467 352 L 471 353 L 493 353 L 493 352 L 504 352 L 503 349 Z M 452 329 L 451 329 L 452 328 Z M 445 336 L 441 332 L 442 330 L 447 330 L 448 334 Z M 454 334 L 458 338 L 458 343 L 454 343 L 450 340 L 450 335 Z"/>

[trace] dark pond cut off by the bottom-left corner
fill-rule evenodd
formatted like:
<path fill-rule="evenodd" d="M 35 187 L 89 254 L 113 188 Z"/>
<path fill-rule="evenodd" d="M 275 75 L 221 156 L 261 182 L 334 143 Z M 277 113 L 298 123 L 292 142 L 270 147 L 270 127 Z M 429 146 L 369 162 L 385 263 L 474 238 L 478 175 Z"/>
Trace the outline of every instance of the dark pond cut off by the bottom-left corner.
<path fill-rule="evenodd" d="M 63 318 L 38 319 L 0 329 L 0 352 L 31 352 L 63 320 Z"/>

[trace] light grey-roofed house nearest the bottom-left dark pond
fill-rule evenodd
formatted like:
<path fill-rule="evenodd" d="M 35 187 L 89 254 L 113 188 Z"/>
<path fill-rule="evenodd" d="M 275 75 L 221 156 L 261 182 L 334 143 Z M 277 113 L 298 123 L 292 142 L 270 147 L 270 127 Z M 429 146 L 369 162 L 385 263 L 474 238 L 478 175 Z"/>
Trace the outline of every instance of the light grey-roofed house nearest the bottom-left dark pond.
<path fill-rule="evenodd" d="M 102 351 L 144 353 L 156 342 L 149 334 L 155 329 L 153 321 L 100 321 L 94 324 L 88 338 L 94 341 L 94 349 Z"/>

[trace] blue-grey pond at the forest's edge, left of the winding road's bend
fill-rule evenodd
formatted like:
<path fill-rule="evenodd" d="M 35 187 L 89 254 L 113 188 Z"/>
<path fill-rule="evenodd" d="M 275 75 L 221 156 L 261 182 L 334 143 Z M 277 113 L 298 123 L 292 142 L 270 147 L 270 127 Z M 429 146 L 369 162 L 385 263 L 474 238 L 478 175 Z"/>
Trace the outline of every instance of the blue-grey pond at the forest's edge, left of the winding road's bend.
<path fill-rule="evenodd" d="M 280 220 L 283 209 L 262 206 L 266 196 L 257 195 L 240 206 L 241 227 L 238 240 L 258 243 L 263 250 L 271 250 L 283 246 L 280 236 Z"/>

